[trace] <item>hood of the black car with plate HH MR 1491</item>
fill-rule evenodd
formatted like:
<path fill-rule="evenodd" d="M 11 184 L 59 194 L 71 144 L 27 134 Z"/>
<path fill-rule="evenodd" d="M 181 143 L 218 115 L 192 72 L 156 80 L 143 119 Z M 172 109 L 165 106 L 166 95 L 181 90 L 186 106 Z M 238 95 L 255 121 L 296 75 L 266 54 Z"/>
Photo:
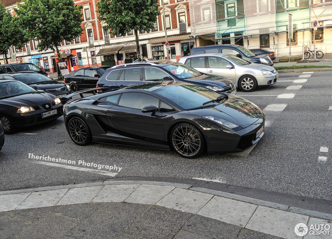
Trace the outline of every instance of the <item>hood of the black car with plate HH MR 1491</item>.
<path fill-rule="evenodd" d="M 2 103 L 21 107 L 21 106 L 41 106 L 42 104 L 51 103 L 55 100 L 55 96 L 45 92 L 33 92 L 23 95 L 0 99 Z"/>

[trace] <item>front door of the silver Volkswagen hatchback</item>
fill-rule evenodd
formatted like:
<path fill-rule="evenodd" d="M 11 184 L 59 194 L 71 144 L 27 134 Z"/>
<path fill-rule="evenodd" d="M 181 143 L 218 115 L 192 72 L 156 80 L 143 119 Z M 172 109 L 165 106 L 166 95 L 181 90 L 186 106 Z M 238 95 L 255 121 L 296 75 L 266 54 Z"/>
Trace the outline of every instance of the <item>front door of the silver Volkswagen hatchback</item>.
<path fill-rule="evenodd" d="M 228 78 L 235 84 L 235 67 L 226 59 L 217 56 L 207 57 L 207 73 L 211 75 L 222 76 Z M 226 68 L 227 65 L 232 65 L 233 68 Z"/>

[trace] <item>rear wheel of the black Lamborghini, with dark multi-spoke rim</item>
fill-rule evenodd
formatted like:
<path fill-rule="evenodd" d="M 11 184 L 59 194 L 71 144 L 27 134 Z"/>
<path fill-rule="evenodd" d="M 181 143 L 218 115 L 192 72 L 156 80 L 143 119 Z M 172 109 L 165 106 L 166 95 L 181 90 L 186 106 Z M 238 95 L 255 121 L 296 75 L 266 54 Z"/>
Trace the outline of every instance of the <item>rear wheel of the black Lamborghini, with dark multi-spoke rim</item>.
<path fill-rule="evenodd" d="M 85 123 L 82 118 L 75 116 L 69 119 L 67 129 L 70 139 L 75 144 L 84 146 L 91 143 L 91 131 L 87 123 Z"/>

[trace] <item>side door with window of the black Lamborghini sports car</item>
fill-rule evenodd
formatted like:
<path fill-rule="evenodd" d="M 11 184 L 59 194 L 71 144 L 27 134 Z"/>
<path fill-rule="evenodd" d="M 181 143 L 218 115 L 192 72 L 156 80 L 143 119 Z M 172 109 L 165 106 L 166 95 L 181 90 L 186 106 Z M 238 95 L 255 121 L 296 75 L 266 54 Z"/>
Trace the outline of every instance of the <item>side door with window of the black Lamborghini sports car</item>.
<path fill-rule="evenodd" d="M 160 112 L 142 113 L 145 106 L 159 106 L 159 99 L 141 92 L 125 92 L 107 112 L 110 123 L 124 141 L 166 144 Z"/>

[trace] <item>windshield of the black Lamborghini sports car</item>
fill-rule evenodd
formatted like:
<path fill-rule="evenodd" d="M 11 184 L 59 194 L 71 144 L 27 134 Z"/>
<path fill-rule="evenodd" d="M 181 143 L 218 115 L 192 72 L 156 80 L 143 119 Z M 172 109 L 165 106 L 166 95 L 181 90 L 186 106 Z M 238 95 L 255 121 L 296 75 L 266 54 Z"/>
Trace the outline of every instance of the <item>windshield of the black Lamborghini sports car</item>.
<path fill-rule="evenodd" d="M 153 92 L 164 96 L 185 110 L 203 106 L 203 103 L 216 99 L 221 95 L 204 87 L 177 85 L 176 83 L 153 90 Z"/>

